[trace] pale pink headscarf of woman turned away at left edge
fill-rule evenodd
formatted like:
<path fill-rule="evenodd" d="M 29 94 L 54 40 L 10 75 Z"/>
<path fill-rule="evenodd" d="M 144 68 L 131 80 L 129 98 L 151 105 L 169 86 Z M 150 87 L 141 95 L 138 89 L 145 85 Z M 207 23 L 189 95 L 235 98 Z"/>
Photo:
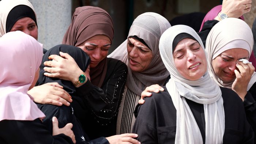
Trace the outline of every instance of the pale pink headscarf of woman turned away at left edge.
<path fill-rule="evenodd" d="M 45 117 L 27 94 L 42 56 L 42 44 L 21 31 L 0 38 L 0 121 Z"/>

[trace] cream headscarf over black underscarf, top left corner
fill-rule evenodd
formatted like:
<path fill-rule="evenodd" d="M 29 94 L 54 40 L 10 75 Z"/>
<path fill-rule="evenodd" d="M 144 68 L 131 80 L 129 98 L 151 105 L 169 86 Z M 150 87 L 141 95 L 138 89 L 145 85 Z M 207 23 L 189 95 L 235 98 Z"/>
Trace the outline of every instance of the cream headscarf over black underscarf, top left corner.
<path fill-rule="evenodd" d="M 9 12 L 17 5 L 27 5 L 34 13 L 34 7 L 28 0 L 1 0 L 0 1 L 0 37 L 6 33 L 6 20 Z"/>

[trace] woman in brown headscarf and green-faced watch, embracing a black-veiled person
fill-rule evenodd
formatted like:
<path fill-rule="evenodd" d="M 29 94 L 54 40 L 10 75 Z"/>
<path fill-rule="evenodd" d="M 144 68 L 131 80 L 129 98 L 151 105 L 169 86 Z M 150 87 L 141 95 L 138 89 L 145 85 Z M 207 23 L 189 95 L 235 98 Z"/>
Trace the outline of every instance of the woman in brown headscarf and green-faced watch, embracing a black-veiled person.
<path fill-rule="evenodd" d="M 91 59 L 90 76 L 76 93 L 82 97 L 72 97 L 71 103 L 76 117 L 90 139 L 116 134 L 116 119 L 123 96 L 127 77 L 127 66 L 113 58 L 107 58 L 114 36 L 110 15 L 98 7 L 78 7 L 63 38 L 63 44 L 77 46 Z M 64 58 L 62 58 L 63 56 Z M 51 55 L 44 64 L 45 76 L 55 77 L 75 83 L 83 71 L 75 61 L 64 54 Z"/>

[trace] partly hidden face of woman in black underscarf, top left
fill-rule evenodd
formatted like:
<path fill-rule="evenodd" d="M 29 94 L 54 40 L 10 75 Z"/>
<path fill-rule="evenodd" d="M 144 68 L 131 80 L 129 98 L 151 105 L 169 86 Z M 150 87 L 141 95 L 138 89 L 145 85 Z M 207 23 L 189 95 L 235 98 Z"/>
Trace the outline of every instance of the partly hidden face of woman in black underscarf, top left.
<path fill-rule="evenodd" d="M 37 40 L 38 38 L 38 30 L 35 21 L 29 17 L 21 18 L 17 20 L 17 22 L 12 26 L 10 31 L 22 31 L 28 35 L 31 35 L 33 38 Z"/>

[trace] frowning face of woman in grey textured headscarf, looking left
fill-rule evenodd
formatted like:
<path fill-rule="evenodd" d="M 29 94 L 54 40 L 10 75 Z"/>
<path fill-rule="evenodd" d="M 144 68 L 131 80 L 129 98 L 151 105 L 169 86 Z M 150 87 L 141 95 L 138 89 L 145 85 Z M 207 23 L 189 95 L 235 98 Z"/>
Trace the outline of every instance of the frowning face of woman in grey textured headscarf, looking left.
<path fill-rule="evenodd" d="M 127 52 L 129 67 L 135 72 L 146 70 L 153 58 L 152 50 L 134 38 L 128 38 Z"/>

